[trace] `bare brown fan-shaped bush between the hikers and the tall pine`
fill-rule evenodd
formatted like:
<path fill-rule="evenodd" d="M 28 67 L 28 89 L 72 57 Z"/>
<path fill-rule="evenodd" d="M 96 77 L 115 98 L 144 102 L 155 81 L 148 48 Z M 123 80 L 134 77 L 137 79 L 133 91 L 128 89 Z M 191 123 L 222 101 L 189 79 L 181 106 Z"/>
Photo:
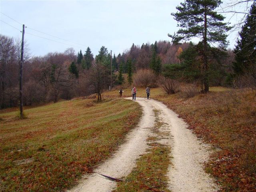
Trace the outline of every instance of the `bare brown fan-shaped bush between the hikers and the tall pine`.
<path fill-rule="evenodd" d="M 160 77 L 159 84 L 161 89 L 167 94 L 174 94 L 180 91 L 180 83 L 177 80 Z"/>

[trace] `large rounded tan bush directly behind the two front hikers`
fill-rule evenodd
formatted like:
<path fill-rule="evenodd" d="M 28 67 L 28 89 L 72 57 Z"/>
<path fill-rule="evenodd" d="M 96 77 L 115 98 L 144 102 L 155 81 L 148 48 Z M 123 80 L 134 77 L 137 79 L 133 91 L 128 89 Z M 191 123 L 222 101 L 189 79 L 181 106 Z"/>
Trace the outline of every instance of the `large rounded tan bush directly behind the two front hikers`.
<path fill-rule="evenodd" d="M 140 69 L 133 76 L 133 84 L 136 87 L 157 87 L 156 75 L 152 70 Z"/>

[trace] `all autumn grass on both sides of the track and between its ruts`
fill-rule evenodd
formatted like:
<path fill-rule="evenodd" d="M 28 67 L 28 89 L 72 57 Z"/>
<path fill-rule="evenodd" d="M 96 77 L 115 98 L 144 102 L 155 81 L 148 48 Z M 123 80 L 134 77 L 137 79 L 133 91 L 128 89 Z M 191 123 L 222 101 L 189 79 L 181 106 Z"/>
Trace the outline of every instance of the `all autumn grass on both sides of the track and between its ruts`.
<path fill-rule="evenodd" d="M 137 97 L 144 98 L 145 88 L 137 90 Z M 198 137 L 216 148 L 206 163 L 206 172 L 225 192 L 256 188 L 254 95 L 252 90 L 211 87 L 208 94 L 184 99 L 179 93 L 166 95 L 160 88 L 151 90 L 151 98 L 164 102 L 188 122 Z M 63 190 L 108 158 L 141 113 L 138 104 L 118 99 L 118 89 L 104 92 L 102 97 L 105 102 L 99 104 L 84 99 L 30 108 L 25 110 L 28 118 L 24 120 L 12 110 L 0 112 L 0 191 Z M 123 97 L 131 97 L 130 88 L 124 90 Z M 138 159 L 118 190 L 128 187 L 136 191 L 141 186 L 150 190 L 157 186 L 158 173 L 164 175 L 170 149 L 156 144 L 157 138 L 148 140 L 154 146 Z M 159 165 L 158 157 L 163 164 Z M 148 162 L 152 166 L 145 169 Z M 146 177 L 150 181 L 142 185 Z M 162 183 L 165 179 L 160 178 Z"/>

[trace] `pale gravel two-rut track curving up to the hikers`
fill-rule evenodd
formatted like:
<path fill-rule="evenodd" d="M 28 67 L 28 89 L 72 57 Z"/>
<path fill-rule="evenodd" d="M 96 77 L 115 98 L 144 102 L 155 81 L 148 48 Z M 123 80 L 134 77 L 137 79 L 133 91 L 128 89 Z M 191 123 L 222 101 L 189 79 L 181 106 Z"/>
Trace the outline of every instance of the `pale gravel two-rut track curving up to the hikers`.
<path fill-rule="evenodd" d="M 131 98 L 127 98 L 131 99 Z M 209 146 L 203 144 L 186 129 L 187 124 L 168 109 L 164 104 L 155 100 L 137 98 L 143 107 L 143 116 L 136 128 L 127 136 L 126 142 L 120 146 L 113 158 L 100 165 L 94 174 L 84 176 L 78 186 L 69 192 L 110 192 L 116 186 L 115 182 L 101 176 L 104 174 L 114 178 L 124 178 L 135 166 L 136 159 L 148 147 L 146 138 L 154 126 L 154 109 L 164 122 L 164 131 L 170 132 L 162 142 L 171 146 L 172 165 L 169 167 L 169 189 L 172 192 L 209 192 L 217 191 L 214 180 L 203 170 L 203 162 L 208 160 Z M 98 174 L 100 173 L 100 174 Z"/>

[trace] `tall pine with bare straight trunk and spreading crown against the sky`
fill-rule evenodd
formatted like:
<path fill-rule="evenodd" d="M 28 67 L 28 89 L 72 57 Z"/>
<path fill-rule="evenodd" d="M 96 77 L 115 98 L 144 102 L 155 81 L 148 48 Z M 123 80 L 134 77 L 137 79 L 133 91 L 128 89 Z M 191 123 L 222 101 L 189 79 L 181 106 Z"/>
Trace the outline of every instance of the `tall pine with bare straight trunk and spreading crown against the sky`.
<path fill-rule="evenodd" d="M 180 40 L 189 40 L 192 37 L 201 38 L 203 42 L 203 92 L 209 91 L 208 83 L 208 44 L 218 43 L 220 47 L 227 46 L 226 33 L 230 27 L 221 22 L 224 16 L 214 11 L 221 4 L 221 0 L 185 0 L 181 6 L 176 7 L 178 12 L 172 13 L 179 22 L 180 30 L 174 35 L 168 34 L 174 43 Z"/>

